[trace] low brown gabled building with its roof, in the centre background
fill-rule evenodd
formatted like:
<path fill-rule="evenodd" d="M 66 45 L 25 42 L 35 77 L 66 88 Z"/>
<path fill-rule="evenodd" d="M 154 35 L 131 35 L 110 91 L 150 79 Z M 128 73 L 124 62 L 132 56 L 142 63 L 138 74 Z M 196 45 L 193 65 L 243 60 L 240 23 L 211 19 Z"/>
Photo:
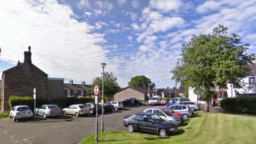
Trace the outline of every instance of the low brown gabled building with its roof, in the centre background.
<path fill-rule="evenodd" d="M 115 101 L 123 101 L 125 99 L 130 99 L 130 98 L 138 98 L 141 100 L 148 100 L 149 97 L 151 97 L 153 95 L 156 95 L 156 92 L 149 90 L 149 94 L 148 94 L 148 89 L 127 86 L 124 89 L 118 91 L 114 95 L 114 100 Z"/>

